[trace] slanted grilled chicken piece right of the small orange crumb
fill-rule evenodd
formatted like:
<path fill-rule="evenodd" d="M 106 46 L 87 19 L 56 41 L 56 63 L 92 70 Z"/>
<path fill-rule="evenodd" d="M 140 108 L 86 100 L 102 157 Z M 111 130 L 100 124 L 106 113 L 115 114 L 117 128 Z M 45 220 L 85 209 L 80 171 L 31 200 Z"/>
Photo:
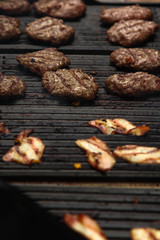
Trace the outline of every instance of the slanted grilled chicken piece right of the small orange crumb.
<path fill-rule="evenodd" d="M 86 152 L 88 163 L 99 171 L 110 170 L 116 163 L 109 147 L 95 136 L 89 139 L 79 139 L 76 144 Z"/>

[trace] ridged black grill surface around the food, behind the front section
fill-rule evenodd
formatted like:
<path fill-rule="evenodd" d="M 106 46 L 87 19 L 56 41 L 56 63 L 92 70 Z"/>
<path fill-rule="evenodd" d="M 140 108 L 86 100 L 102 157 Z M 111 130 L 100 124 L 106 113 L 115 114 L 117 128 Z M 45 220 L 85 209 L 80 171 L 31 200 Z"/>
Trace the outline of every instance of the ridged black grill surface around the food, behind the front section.
<path fill-rule="evenodd" d="M 115 5 L 114 5 L 115 6 Z M 112 6 L 109 6 L 112 7 Z M 154 21 L 160 25 L 159 7 L 150 7 Z M 0 45 L 0 71 L 14 74 L 25 80 L 27 85 L 24 98 L 2 102 L 0 121 L 11 130 L 8 135 L 0 136 L 0 159 L 13 146 L 13 140 L 23 129 L 33 128 L 33 136 L 41 138 L 46 144 L 43 161 L 39 165 L 22 166 L 16 163 L 4 163 L 0 160 L 0 177 L 5 179 L 54 179 L 54 180 L 155 180 L 160 177 L 160 165 L 131 165 L 117 159 L 115 167 L 105 174 L 91 169 L 84 152 L 75 140 L 95 135 L 107 142 L 111 150 L 118 145 L 140 144 L 159 147 L 159 109 L 160 95 L 146 99 L 126 100 L 109 94 L 105 89 L 105 78 L 118 70 L 109 63 L 109 54 L 119 48 L 106 39 L 106 29 L 101 25 L 100 5 L 89 5 L 86 16 L 77 21 L 67 22 L 75 27 L 76 35 L 71 44 L 60 47 L 71 59 L 71 68 L 82 68 L 92 74 L 99 84 L 99 94 L 92 103 L 83 103 L 74 107 L 71 102 L 50 96 L 41 86 L 41 78 L 20 67 L 16 56 L 20 53 L 39 50 L 50 45 L 33 43 L 22 34 L 19 40 Z M 20 17 L 22 29 L 34 19 L 31 16 Z M 160 49 L 159 31 L 143 47 Z M 160 76 L 158 73 L 156 73 Z M 105 136 L 97 129 L 88 126 L 88 121 L 98 118 L 126 118 L 133 123 L 149 124 L 151 130 L 143 137 Z M 82 169 L 73 167 L 75 162 L 82 163 Z"/>

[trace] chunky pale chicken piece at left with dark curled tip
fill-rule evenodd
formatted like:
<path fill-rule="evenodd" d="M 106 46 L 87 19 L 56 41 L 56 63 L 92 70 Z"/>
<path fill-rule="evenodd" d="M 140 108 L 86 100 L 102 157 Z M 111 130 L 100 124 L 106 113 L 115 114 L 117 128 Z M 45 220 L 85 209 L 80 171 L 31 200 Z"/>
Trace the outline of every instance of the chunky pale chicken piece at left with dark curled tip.
<path fill-rule="evenodd" d="M 40 163 L 45 150 L 45 145 L 41 139 L 29 137 L 32 132 L 33 129 L 20 132 L 15 139 L 15 146 L 3 155 L 2 160 L 5 162 L 17 162 L 26 165 Z"/>

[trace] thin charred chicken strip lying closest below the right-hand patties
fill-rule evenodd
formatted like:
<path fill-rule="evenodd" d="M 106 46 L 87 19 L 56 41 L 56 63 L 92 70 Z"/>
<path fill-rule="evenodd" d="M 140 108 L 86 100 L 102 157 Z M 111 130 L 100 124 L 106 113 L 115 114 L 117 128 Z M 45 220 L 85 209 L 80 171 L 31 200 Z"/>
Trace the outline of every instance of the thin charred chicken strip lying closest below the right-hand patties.
<path fill-rule="evenodd" d="M 102 133 L 107 135 L 119 133 L 142 136 L 150 129 L 146 125 L 137 127 L 123 118 L 106 119 L 105 121 L 103 119 L 92 120 L 89 122 L 89 125 L 98 128 Z"/>

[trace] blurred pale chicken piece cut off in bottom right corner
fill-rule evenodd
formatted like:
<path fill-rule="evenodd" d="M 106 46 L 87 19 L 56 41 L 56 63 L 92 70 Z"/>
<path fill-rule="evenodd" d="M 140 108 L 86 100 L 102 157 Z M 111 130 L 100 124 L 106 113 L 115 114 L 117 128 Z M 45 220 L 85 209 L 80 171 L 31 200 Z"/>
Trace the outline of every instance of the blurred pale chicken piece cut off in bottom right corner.
<path fill-rule="evenodd" d="M 133 228 L 130 233 L 132 240 L 160 240 L 160 230 L 154 228 Z"/>

